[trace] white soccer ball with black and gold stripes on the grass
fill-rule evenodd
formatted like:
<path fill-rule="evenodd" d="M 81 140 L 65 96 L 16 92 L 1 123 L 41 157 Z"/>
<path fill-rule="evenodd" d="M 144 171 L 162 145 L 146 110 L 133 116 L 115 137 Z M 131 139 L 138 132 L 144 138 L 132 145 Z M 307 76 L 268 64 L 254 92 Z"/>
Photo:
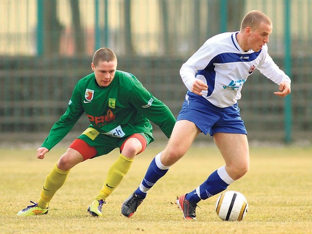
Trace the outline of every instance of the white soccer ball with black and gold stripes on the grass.
<path fill-rule="evenodd" d="M 241 193 L 227 191 L 218 197 L 215 211 L 224 221 L 241 221 L 248 212 L 248 202 Z"/>

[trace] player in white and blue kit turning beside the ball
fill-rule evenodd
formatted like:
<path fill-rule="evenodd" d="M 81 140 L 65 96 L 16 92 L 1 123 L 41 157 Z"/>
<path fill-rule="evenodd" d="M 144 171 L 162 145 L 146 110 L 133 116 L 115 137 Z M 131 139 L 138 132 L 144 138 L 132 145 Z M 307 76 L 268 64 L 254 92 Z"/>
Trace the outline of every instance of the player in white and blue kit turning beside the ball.
<path fill-rule="evenodd" d="M 149 189 L 191 147 L 200 132 L 214 137 L 225 165 L 216 169 L 198 187 L 177 198 L 185 219 L 195 219 L 200 200 L 216 195 L 249 170 L 247 131 L 237 100 L 254 69 L 279 85 L 275 95 L 291 93 L 291 79 L 268 54 L 272 21 L 260 11 L 249 12 L 239 32 L 222 33 L 208 39 L 180 69 L 188 88 L 182 109 L 166 148 L 151 162 L 137 190 L 122 204 L 121 213 L 130 217 Z M 232 147 L 235 145 L 235 147 Z"/>

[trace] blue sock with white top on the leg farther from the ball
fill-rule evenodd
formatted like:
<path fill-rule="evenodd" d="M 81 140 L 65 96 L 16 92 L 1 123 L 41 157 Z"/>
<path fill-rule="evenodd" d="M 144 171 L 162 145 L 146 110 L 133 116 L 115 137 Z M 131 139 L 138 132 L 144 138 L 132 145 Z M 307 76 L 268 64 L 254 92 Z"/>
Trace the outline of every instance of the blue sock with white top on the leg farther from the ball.
<path fill-rule="evenodd" d="M 166 167 L 161 164 L 160 155 L 161 153 L 156 155 L 155 158 L 152 160 L 140 186 L 135 191 L 135 193 L 143 197 L 143 199 L 146 197 L 147 191 L 149 191 L 153 187 L 153 185 L 158 181 L 158 179 L 164 176 L 169 170 L 169 167 Z"/>

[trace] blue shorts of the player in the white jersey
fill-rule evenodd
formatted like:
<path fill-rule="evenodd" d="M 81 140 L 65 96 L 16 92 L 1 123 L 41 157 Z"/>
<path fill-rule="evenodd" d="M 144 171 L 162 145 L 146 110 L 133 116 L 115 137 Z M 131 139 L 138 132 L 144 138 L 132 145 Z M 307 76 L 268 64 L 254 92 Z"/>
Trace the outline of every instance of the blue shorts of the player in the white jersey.
<path fill-rule="evenodd" d="M 215 133 L 246 134 L 244 121 L 239 114 L 237 103 L 221 108 L 213 105 L 202 97 L 189 96 L 183 102 L 182 109 L 176 120 L 189 120 L 205 134 Z"/>

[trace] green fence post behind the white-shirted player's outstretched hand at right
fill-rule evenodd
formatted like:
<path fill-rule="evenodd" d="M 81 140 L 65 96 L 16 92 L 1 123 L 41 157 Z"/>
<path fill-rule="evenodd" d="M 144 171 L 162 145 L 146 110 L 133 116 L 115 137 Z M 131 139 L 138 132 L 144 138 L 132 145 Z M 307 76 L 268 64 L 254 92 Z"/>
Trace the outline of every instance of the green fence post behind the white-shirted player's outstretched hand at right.
<path fill-rule="evenodd" d="M 284 67 L 285 73 L 289 76 L 292 74 L 292 38 L 291 38 L 291 0 L 285 0 L 285 58 Z M 284 129 L 285 129 L 285 142 L 292 141 L 292 96 L 287 95 L 284 102 Z"/>

